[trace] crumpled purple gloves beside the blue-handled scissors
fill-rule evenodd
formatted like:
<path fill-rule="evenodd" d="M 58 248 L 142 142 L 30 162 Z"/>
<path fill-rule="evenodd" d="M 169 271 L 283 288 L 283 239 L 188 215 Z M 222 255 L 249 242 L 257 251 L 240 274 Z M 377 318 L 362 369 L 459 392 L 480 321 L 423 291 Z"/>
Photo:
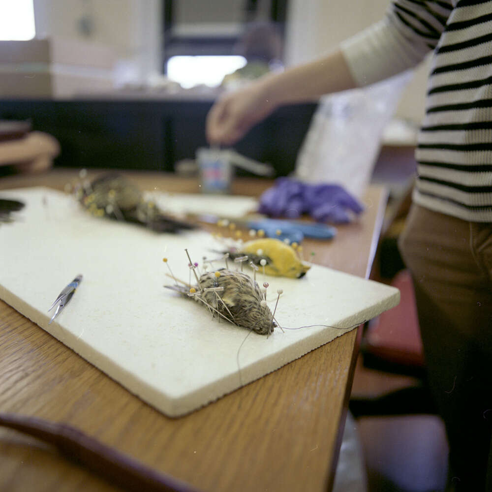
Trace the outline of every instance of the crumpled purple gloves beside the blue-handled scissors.
<path fill-rule="evenodd" d="M 278 178 L 260 197 L 258 212 L 271 217 L 308 214 L 318 222 L 344 224 L 364 207 L 338 184 L 307 184 Z"/>

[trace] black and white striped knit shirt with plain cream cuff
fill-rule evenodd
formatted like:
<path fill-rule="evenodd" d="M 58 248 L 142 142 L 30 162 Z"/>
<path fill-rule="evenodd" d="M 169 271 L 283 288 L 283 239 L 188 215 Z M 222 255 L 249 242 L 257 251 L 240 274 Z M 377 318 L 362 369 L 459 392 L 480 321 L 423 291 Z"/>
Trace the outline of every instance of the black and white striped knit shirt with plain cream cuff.
<path fill-rule="evenodd" d="M 492 222 L 492 1 L 398 0 L 342 50 L 361 86 L 434 51 L 414 201 Z"/>

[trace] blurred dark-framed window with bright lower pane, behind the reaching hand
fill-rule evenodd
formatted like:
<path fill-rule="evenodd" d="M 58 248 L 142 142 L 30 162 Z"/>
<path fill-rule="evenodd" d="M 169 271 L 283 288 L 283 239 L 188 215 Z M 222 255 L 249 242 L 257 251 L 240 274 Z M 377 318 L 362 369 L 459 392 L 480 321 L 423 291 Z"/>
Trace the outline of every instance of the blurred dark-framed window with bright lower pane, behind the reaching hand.
<path fill-rule="evenodd" d="M 258 56 L 281 61 L 287 1 L 163 0 L 163 73 L 184 88 L 217 86 L 224 75 Z M 276 37 L 275 56 L 266 53 L 272 43 L 263 35 L 255 43 L 249 39 L 246 48 L 248 33 L 260 25 L 269 25 L 270 36 Z"/>

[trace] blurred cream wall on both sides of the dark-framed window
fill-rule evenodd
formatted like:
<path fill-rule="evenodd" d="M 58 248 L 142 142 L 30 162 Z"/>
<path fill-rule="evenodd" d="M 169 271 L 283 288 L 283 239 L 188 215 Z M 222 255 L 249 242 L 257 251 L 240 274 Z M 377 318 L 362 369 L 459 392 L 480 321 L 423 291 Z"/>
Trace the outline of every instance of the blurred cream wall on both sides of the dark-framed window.
<path fill-rule="evenodd" d="M 174 0 L 173 29 L 226 37 L 239 29 L 244 9 L 254 4 L 257 19 L 268 17 L 272 1 Z M 146 82 L 162 73 L 166 49 L 163 20 L 168 1 L 161 0 L 34 0 L 36 37 L 50 35 L 103 44 L 114 49 L 117 84 Z M 387 0 L 288 0 L 285 2 L 285 66 L 307 61 L 335 47 L 342 39 L 377 21 Z M 169 12 L 168 12 L 169 13 Z M 427 66 L 415 72 L 401 99 L 397 116 L 420 121 L 424 113 Z"/>

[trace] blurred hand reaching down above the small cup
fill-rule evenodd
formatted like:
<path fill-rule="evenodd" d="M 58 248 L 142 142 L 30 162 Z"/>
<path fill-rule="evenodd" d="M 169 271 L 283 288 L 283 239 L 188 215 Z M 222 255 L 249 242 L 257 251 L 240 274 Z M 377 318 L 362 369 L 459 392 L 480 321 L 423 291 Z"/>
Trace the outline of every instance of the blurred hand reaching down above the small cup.
<path fill-rule="evenodd" d="M 233 145 L 255 123 L 266 118 L 276 108 L 268 92 L 267 84 L 258 80 L 219 97 L 207 115 L 206 135 L 209 143 Z"/>

